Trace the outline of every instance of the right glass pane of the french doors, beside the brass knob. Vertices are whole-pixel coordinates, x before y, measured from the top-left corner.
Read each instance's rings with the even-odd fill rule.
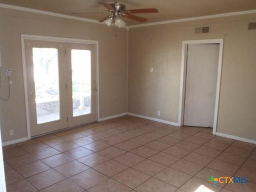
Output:
[[[71,50],[73,117],[92,113],[91,51]]]

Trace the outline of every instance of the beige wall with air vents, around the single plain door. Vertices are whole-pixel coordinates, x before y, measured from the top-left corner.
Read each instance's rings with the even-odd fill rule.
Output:
[[[217,132],[256,140],[256,30],[247,30],[249,21],[256,14],[130,29],[128,112],[178,122],[182,41],[224,38]],[[198,26],[210,26],[210,34],[194,34]]]

